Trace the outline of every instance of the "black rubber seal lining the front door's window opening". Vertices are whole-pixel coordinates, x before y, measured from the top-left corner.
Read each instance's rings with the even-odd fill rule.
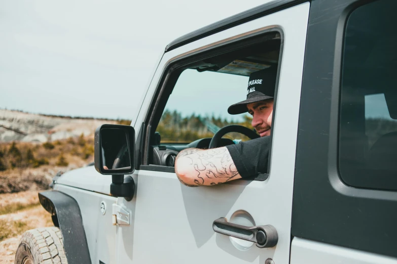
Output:
[[[202,60],[207,57],[215,56],[215,55],[219,54],[219,50],[223,50],[223,52],[231,52],[233,50],[240,49],[242,47],[247,47],[247,46],[251,46],[254,44],[258,44],[261,42],[261,40],[258,41],[258,39],[261,39],[261,37],[267,36],[271,32],[279,33],[280,40],[281,40],[280,41],[279,60],[278,60],[278,65],[277,65],[277,80],[276,80],[276,88],[275,88],[275,94],[274,94],[274,106],[273,106],[274,108],[276,107],[279,74],[280,74],[282,55],[283,55],[283,50],[284,50],[284,32],[282,31],[282,28],[279,26],[272,26],[269,28],[265,28],[263,30],[259,30],[254,33],[243,35],[243,36],[235,38],[235,39],[227,40],[225,42],[218,43],[211,47],[207,47],[202,50],[195,51],[193,53],[189,53],[184,56],[178,57],[174,60],[171,60],[164,67],[165,70],[163,71],[162,76],[160,77],[159,84],[156,88],[156,91],[153,94],[153,98],[156,98],[156,100],[152,99],[149,110],[147,112],[147,116],[144,121],[147,124],[147,127],[146,127],[146,134],[145,134],[146,137],[143,139],[144,142],[143,142],[142,161],[140,162],[140,165],[139,165],[139,167],[141,169],[147,168],[149,166],[149,149],[150,149],[150,138],[151,138],[151,134],[152,134],[151,130],[153,127],[152,125],[154,124],[153,122],[156,119],[160,120],[162,111],[159,111],[158,107],[159,107],[161,99],[163,98],[165,90],[167,88],[167,84],[168,84],[167,80],[170,79],[170,77],[174,73],[174,71],[176,71],[178,69],[181,70],[181,69],[183,69],[184,66],[187,66],[192,62]],[[264,41],[264,40],[262,40],[262,41]],[[234,47],[234,46],[236,46],[236,47]],[[224,51],[225,48],[228,48],[228,50]],[[182,73],[182,70],[181,70],[181,72],[179,72],[179,74],[180,73]],[[179,74],[177,74],[177,78],[179,77]],[[173,87],[172,87],[172,89],[173,89]],[[168,100],[168,98],[167,98],[167,100]],[[160,115],[160,117],[158,115]],[[273,117],[272,117],[272,127],[274,127],[275,116],[276,116],[276,113],[274,111]],[[157,126],[157,124],[156,124],[156,126]],[[271,137],[273,137],[273,135],[271,135]],[[271,164],[270,162],[271,162],[271,153],[272,153],[272,140],[270,141],[269,153],[270,153],[270,155],[269,155],[269,161],[268,161],[268,164],[269,164],[268,173],[270,171],[270,164]],[[152,165],[150,165],[150,166],[152,166]],[[172,169],[173,169],[173,172],[175,172],[174,168],[172,168]],[[151,167],[150,170],[170,172],[169,168],[166,166]],[[258,177],[249,178],[249,180],[264,181],[264,180],[268,179],[268,177],[267,177],[267,175],[269,175],[268,173],[259,174]]]

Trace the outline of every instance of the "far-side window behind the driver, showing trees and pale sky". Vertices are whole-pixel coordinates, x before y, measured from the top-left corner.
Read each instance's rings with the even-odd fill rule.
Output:
[[[247,114],[230,115],[228,107],[246,97],[248,76],[222,72],[187,69],[179,76],[156,131],[161,143],[190,143],[211,138],[225,125],[241,124],[247,127]],[[247,140],[238,133],[226,138]]]

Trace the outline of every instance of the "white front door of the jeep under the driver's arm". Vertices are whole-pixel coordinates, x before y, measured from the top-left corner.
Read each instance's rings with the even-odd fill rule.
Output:
[[[118,204],[130,211],[131,223],[117,226],[117,263],[265,263],[268,258],[277,264],[289,262],[298,113],[309,8],[309,2],[263,5],[225,20],[224,24],[210,25],[192,36],[177,39],[167,47],[134,125],[137,150],[132,176],[136,195],[131,201],[118,198]],[[227,72],[231,65],[226,63],[221,69],[216,60],[222,61],[239,51],[260,53],[261,45],[264,51],[272,48],[269,43],[278,43],[275,61],[268,60],[269,65],[278,69],[278,81],[268,173],[218,186],[184,186],[174,172],[173,158],[188,145],[175,143],[169,147],[162,144],[165,130],[155,133],[159,132],[161,116],[166,113],[165,106],[173,96],[172,89],[175,87],[173,92],[176,93],[178,82],[183,82],[183,76],[189,77],[188,72],[208,71],[214,75],[220,74],[219,71]],[[251,58],[251,62],[258,65],[249,54],[241,56],[246,60]],[[241,63],[237,55],[230,63],[233,62]],[[207,64],[200,66],[200,63]],[[233,74],[223,74],[234,78]],[[192,107],[198,100],[195,95],[204,93],[204,90],[189,90],[195,81],[199,80],[187,80],[192,85],[184,86],[186,102]],[[237,97],[225,93],[217,100],[229,105],[236,103],[237,98],[244,100],[245,85],[242,81],[241,94]],[[224,89],[221,82],[216,86]],[[211,93],[207,95],[210,97]],[[172,105],[178,109],[186,102],[176,100]],[[209,107],[208,104],[201,102],[202,108]],[[199,108],[195,109],[200,112]],[[195,117],[199,123],[208,120],[203,116],[201,119]],[[206,129],[211,130],[214,122],[206,124]],[[181,135],[183,141],[186,135]],[[165,150],[170,155],[164,156]],[[157,158],[156,153],[160,153]],[[272,225],[278,233],[277,245],[259,248],[255,243],[215,233],[212,224],[220,217],[246,227]]]

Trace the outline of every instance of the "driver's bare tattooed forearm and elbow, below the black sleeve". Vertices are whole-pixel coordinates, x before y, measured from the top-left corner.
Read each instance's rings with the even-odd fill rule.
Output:
[[[186,186],[215,185],[240,179],[226,147],[185,149],[176,156],[176,175]]]

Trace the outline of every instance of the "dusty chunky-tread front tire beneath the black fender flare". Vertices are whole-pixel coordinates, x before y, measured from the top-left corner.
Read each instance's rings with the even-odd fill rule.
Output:
[[[15,254],[15,264],[67,264],[61,231],[57,227],[23,233]]]

